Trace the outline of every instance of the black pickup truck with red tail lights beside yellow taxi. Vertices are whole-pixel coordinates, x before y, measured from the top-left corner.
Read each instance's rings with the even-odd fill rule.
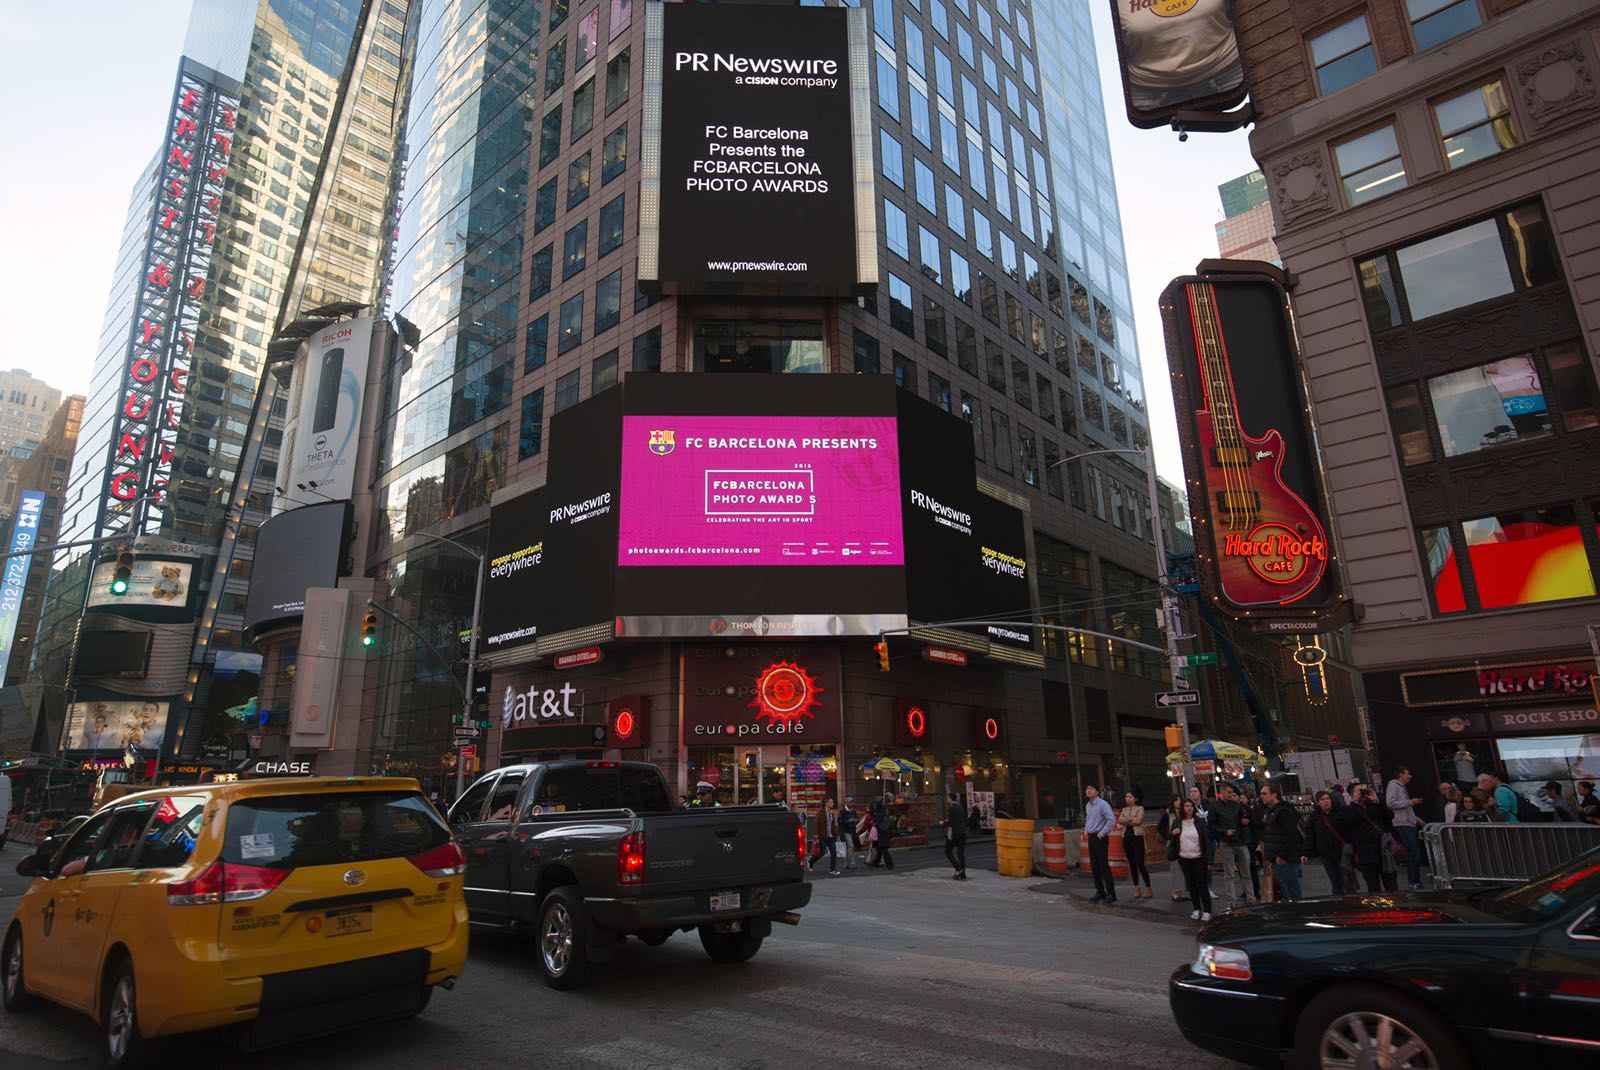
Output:
[[[450,808],[475,924],[531,928],[552,988],[576,988],[627,936],[699,929],[742,963],[811,900],[805,830],[784,806],[675,809],[642,761],[546,761],[485,774]]]

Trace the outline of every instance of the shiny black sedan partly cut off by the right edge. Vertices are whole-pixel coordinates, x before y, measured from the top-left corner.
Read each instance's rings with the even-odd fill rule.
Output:
[[[1192,1043],[1258,1067],[1600,1067],[1600,849],[1526,884],[1229,913],[1171,977]]]

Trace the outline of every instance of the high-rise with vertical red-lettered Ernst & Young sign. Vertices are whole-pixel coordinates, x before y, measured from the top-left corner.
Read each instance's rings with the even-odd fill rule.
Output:
[[[306,307],[373,304],[382,289],[403,26],[403,0],[198,0],[165,133],[133,190],[61,537],[126,536],[186,577],[182,613],[163,605],[144,621],[120,603],[131,624],[118,627],[157,627],[165,645],[130,685],[166,707],[163,757],[198,745],[186,734],[216,654],[242,646],[274,443],[258,489],[229,489],[272,430],[270,392],[256,419],[270,339]],[[53,563],[35,677],[62,705],[133,701],[75,670],[107,545]]]

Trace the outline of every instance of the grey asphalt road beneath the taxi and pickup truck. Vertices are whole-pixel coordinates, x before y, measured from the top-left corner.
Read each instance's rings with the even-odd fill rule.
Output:
[[[21,892],[0,859],[0,913]],[[474,931],[454,992],[416,1020],[242,1056],[226,1035],[186,1036],[176,1062],[205,1067],[570,1067],[762,1070],[830,1064],[986,1070],[1234,1065],[1190,1048],[1166,1009],[1166,974],[1194,955],[1187,926],[1083,910],[1038,881],[902,854],[894,873],[832,880],[798,928],[717,966],[694,934],[629,940],[594,984],[546,988],[531,945]],[[971,864],[981,864],[974,852]],[[59,1008],[0,1014],[6,1070],[93,1067],[90,1022]]]

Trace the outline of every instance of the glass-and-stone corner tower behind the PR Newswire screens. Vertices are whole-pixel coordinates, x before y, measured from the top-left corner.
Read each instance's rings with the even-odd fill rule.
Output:
[[[827,753],[680,736],[682,704],[718,686],[694,669],[717,645],[606,643],[598,665],[558,677],[496,664],[493,693],[541,672],[598,707],[642,694],[650,757],[682,785],[715,769],[738,798],[771,798],[766,777],[787,792],[800,768],[875,792],[859,766],[890,752],[923,758],[923,792],[986,779],[1016,812],[1062,809],[1080,781],[1165,790],[1163,659],[1104,638],[1158,643],[1142,461],[1066,462],[1147,440],[1088,11],[877,0],[867,14],[877,291],[709,299],[635,281],[642,3],[413,5],[389,304],[410,342],[386,376],[365,537],[387,605],[426,645],[397,633],[370,670],[362,771],[453,779],[461,697],[435,651],[464,653],[475,561],[432,536],[482,549],[490,505],[552,478],[555,413],[630,374],[829,371],[893,376],[965,419],[979,481],[1029,510],[1042,617],[1101,635],[1045,633],[1043,669],[949,669],[910,648],[883,673],[870,643],[811,645],[843,689]],[[744,648],[728,649],[738,662]],[[896,744],[910,699],[949,709],[931,710],[930,739]],[[974,744],[974,710],[1005,712],[1005,745]],[[499,757],[493,733],[485,749]]]

